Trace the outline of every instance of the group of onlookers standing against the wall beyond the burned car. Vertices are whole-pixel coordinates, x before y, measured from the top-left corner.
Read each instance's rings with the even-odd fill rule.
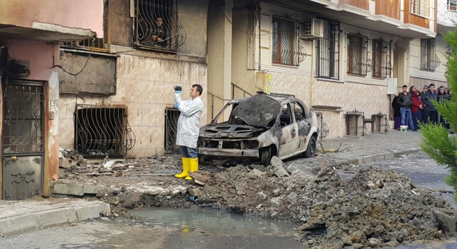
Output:
[[[400,129],[401,125],[408,125],[411,131],[417,131],[421,122],[433,122],[442,124],[449,129],[449,124],[439,115],[432,100],[438,103],[445,103],[452,96],[447,87],[435,89],[435,84],[425,85],[423,91],[416,87],[403,86],[397,96],[392,101],[394,108],[394,128]]]

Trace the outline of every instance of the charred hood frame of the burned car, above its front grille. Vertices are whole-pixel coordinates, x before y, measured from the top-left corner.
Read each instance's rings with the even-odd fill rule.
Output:
[[[210,124],[200,128],[200,137],[208,139],[245,139],[258,136],[265,130],[265,128],[247,125]]]

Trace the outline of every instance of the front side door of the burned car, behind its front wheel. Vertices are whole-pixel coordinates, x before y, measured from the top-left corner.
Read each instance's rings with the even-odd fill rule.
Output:
[[[295,115],[289,103],[283,103],[283,109],[278,115],[281,127],[281,138],[279,139],[279,157],[285,157],[297,151],[298,125],[295,122]]]

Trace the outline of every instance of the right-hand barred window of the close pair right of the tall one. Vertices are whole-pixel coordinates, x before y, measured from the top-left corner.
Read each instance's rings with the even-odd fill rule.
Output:
[[[384,39],[373,39],[372,43],[372,76],[387,78],[392,72],[392,63],[390,63],[391,49],[390,42]]]

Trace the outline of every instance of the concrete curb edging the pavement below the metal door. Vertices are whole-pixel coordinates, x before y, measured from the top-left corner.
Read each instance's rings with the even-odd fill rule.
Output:
[[[0,219],[0,236],[39,231],[53,226],[81,222],[100,217],[101,212],[110,213],[110,205],[102,201],[77,202],[77,205],[60,205],[48,210],[37,210]]]

